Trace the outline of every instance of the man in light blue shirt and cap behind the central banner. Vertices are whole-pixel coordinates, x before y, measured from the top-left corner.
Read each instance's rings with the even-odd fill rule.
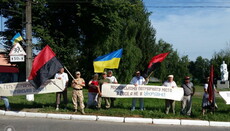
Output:
[[[136,76],[132,78],[130,84],[133,84],[134,86],[146,85],[146,84],[148,84],[148,79],[145,80],[145,78],[141,76],[140,71],[137,71]],[[135,110],[136,101],[137,101],[137,98],[132,99],[131,111]],[[139,98],[139,101],[140,101],[140,110],[143,111],[144,110],[144,98]]]

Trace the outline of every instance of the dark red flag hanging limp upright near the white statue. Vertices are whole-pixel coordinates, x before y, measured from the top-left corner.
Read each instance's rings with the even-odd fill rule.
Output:
[[[209,76],[209,82],[208,82],[208,100],[212,103],[214,102],[214,88],[213,88],[213,78],[214,78],[214,67],[211,66],[210,69],[210,76]]]

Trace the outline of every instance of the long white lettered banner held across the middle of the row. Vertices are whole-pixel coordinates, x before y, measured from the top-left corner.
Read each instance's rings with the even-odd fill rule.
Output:
[[[102,97],[113,98],[159,98],[181,101],[183,88],[151,85],[103,84]]]

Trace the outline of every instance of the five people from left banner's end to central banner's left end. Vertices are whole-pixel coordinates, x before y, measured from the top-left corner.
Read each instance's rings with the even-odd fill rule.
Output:
[[[61,79],[65,86],[63,92],[56,93],[56,110],[59,110],[60,99],[63,96],[63,101],[65,107],[67,105],[67,85],[68,85],[68,75],[64,72],[64,68],[60,69],[60,71],[55,75],[55,79]],[[88,83],[88,108],[101,108],[102,103],[102,93],[101,87],[102,84],[113,83],[117,84],[117,79],[113,76],[113,72],[109,70],[108,72],[103,72],[101,79],[99,79],[98,74],[94,74],[92,80]],[[83,95],[83,87],[85,86],[85,80],[81,78],[81,73],[79,71],[75,72],[75,78],[71,83],[71,87],[73,88],[72,92],[72,102],[74,105],[74,112],[78,111],[78,102],[80,107],[80,112],[85,114],[84,108],[84,95]],[[114,106],[115,98],[103,98],[105,100],[105,108],[109,109],[111,106]]]

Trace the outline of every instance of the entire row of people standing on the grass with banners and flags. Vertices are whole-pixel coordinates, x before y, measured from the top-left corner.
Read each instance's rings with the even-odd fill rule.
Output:
[[[105,101],[105,108],[109,109],[110,107],[114,106],[115,98],[105,98],[102,97],[102,85],[107,83],[112,84],[118,84],[118,81],[115,76],[113,76],[113,72],[109,70],[108,72],[103,72],[101,74],[101,78],[99,79],[98,74],[94,74],[93,78],[88,83],[88,102],[87,107],[88,108],[96,108],[100,109],[102,104],[102,99]],[[67,107],[67,86],[69,82],[69,78],[67,73],[64,72],[64,68],[61,68],[58,73],[55,75],[55,79],[61,79],[63,81],[63,86],[65,89],[63,92],[57,92],[56,93],[56,110],[59,110],[59,106],[61,103],[61,96],[63,96],[63,101],[65,108]],[[176,82],[173,80],[173,75],[168,75],[168,79],[163,83],[162,86],[165,87],[171,87],[171,88],[177,88]],[[133,84],[134,86],[138,85],[146,85],[148,84],[149,79],[144,78],[141,76],[140,71],[135,72],[135,76],[131,79],[130,84]],[[202,100],[202,113],[204,114],[207,109],[210,109],[210,107],[217,107],[217,105],[212,105],[213,102],[210,102],[208,100],[209,94],[208,94],[208,81],[209,77],[206,78],[206,83],[204,84],[204,94],[203,94],[203,100]],[[83,95],[83,87],[86,86],[85,80],[81,78],[81,73],[79,71],[75,72],[75,78],[73,79],[71,83],[71,87],[73,88],[72,91],[72,102],[74,105],[74,112],[78,111],[78,102],[80,107],[80,112],[82,114],[85,114],[84,108],[84,95]],[[181,101],[181,114],[182,115],[188,115],[190,116],[192,113],[192,96],[195,94],[195,87],[193,83],[190,81],[190,77],[186,76],[184,78],[184,82],[181,85],[181,87],[184,90],[184,96]],[[214,90],[218,93],[216,88]],[[10,110],[9,101],[6,97],[1,97],[2,100],[4,100],[6,110]],[[133,98],[132,99],[132,105],[131,105],[131,111],[134,111],[136,109],[136,101],[139,99],[140,103],[140,110],[144,110],[144,98]],[[165,100],[165,113],[169,114],[169,112],[172,112],[175,114],[175,101],[174,100]]]

